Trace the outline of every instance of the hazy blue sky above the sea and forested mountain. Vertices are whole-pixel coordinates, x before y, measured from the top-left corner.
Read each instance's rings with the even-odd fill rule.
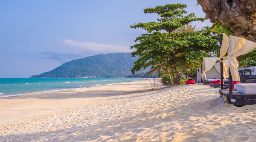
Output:
[[[131,52],[131,29],[156,21],[147,7],[184,3],[204,17],[196,0],[0,0],[0,77],[30,77],[66,61],[100,53]],[[199,28],[209,20],[194,22]]]

